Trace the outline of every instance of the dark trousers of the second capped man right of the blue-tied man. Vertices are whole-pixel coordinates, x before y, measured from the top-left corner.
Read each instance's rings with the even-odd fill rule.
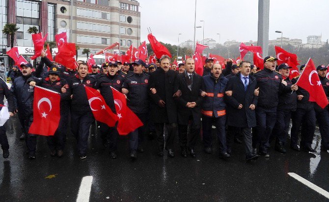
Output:
[[[279,142],[282,142],[282,144],[285,145],[288,136],[290,120],[290,110],[276,111],[276,122],[272,131],[272,135],[270,136],[269,143],[275,140],[276,145],[278,145]]]

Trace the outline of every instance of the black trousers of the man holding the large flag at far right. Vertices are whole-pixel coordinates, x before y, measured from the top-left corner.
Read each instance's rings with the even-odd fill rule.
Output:
[[[297,108],[292,114],[292,123],[291,127],[291,146],[297,145],[298,142],[298,132],[302,126],[302,147],[311,147],[314,131],[315,131],[315,111],[314,109],[301,109]]]

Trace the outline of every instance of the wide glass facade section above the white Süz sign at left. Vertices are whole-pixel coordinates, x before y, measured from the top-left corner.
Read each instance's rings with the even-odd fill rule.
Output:
[[[16,0],[17,46],[33,46],[32,36],[27,32],[30,26],[40,30],[40,3],[28,0]]]

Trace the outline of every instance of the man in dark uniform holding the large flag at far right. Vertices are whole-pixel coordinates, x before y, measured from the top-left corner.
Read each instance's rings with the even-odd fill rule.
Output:
[[[305,65],[301,66],[301,71]],[[296,76],[292,79],[292,83],[296,83],[299,76]],[[313,135],[315,131],[315,111],[314,111],[314,102],[309,100],[309,93],[299,87],[296,91],[297,94],[297,109],[292,114],[292,127],[291,127],[291,141],[290,148],[295,151],[311,151],[315,152],[312,149]],[[301,130],[301,148],[298,147],[298,133],[302,126]]]

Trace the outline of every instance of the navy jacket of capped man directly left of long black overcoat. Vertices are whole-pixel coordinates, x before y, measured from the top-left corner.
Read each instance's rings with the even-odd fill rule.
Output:
[[[150,76],[142,74],[133,74],[127,76],[123,88],[129,90],[127,95],[127,105],[135,113],[148,113],[149,111],[149,87]]]

